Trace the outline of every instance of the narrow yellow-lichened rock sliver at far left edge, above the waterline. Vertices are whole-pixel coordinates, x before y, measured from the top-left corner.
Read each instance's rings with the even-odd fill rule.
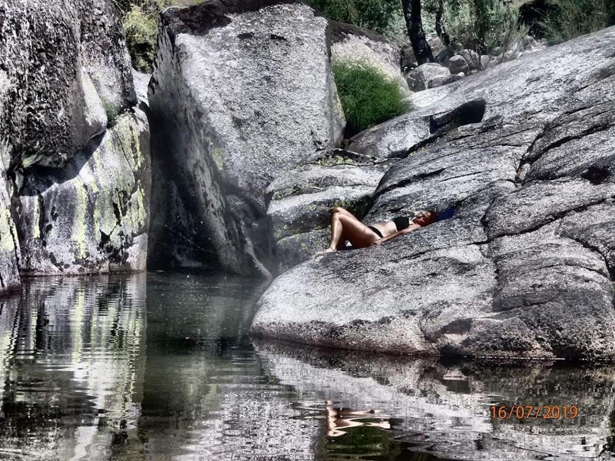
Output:
[[[19,277],[19,240],[10,212],[9,184],[4,161],[9,160],[10,146],[0,141],[0,296],[17,290]]]

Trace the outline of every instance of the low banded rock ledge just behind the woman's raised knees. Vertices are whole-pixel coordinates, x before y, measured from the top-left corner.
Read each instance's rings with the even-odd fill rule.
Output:
[[[333,149],[277,176],[267,187],[267,214],[280,268],[327,247],[331,208],[364,216],[374,188],[395,161]]]

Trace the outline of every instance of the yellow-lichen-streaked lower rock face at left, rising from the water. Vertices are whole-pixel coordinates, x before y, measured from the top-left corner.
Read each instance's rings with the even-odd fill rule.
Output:
[[[23,274],[146,269],[151,167],[145,114],[124,114],[63,168],[35,168],[19,193]]]

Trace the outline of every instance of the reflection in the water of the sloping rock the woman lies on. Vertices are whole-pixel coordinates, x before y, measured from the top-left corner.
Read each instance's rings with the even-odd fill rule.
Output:
[[[593,458],[611,434],[613,368],[458,364],[371,358],[360,353],[298,350],[256,343],[263,366],[303,395],[373,409],[392,422],[395,441],[438,457],[520,460],[552,454]],[[571,405],[575,420],[502,420],[492,404]],[[542,459],[542,458],[541,458]]]

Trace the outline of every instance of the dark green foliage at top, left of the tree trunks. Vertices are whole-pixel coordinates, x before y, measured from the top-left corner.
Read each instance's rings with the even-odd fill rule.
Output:
[[[400,0],[306,0],[325,17],[384,33],[400,11]]]

